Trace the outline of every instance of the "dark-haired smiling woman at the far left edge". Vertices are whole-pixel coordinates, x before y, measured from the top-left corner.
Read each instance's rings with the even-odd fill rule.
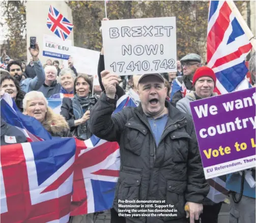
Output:
[[[23,103],[25,92],[20,89],[19,83],[16,78],[9,74],[1,74],[1,90],[9,93],[15,101],[18,109],[23,112]]]

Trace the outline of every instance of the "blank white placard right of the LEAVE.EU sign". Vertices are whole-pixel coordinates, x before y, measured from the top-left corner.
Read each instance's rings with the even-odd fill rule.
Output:
[[[77,73],[95,75],[98,73],[98,62],[100,52],[81,47],[71,47],[70,55],[73,58],[74,67]],[[68,61],[64,61],[68,67]]]

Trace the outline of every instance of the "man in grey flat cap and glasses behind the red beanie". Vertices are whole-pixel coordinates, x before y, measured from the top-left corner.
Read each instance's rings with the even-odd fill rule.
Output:
[[[183,68],[183,76],[176,77],[170,95],[174,106],[192,90],[193,75],[196,69],[201,67],[201,56],[195,53],[187,54],[180,61]]]

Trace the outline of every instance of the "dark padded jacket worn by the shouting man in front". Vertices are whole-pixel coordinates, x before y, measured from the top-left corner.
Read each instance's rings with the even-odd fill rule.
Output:
[[[117,212],[137,209],[121,208],[118,205],[127,203],[118,203],[118,200],[165,201],[164,204],[174,205],[178,210],[176,217],[128,217],[128,222],[186,222],[185,202],[202,203],[209,192],[191,118],[166,101],[169,117],[156,147],[141,105],[112,115],[116,101],[103,93],[90,116],[93,134],[120,145],[120,177],[113,208]],[[153,202],[146,204],[155,205]]]

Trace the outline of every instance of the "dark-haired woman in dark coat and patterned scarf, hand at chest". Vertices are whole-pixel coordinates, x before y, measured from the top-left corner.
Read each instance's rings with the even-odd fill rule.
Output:
[[[88,120],[90,110],[98,101],[96,96],[92,96],[92,89],[90,77],[79,75],[74,81],[74,98],[64,98],[61,107],[61,115],[68,121],[72,136],[82,140],[92,136]]]

